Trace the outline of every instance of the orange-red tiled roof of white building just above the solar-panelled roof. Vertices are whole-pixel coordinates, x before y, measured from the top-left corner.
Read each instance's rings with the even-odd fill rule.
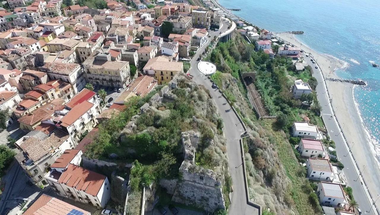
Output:
[[[105,179],[106,176],[102,174],[69,164],[58,182],[74,187],[77,190],[82,190],[92,196],[97,196]]]

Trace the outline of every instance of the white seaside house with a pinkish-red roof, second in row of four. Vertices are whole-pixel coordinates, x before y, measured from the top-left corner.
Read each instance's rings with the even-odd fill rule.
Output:
[[[299,141],[298,151],[302,157],[326,156],[323,143],[320,140],[301,139]]]

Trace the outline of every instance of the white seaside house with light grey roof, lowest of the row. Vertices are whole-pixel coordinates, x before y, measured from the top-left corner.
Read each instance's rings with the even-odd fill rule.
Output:
[[[317,195],[323,205],[339,207],[347,204],[342,185],[329,182],[321,182],[318,185]]]

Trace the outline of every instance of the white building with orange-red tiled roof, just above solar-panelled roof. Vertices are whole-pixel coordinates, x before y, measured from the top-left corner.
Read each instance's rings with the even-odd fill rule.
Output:
[[[111,198],[107,176],[69,163],[63,172],[51,168],[45,179],[55,194],[73,201],[104,208]]]

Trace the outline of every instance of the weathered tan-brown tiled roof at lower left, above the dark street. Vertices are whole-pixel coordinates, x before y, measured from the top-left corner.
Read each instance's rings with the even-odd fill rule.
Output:
[[[20,147],[28,154],[30,159],[36,161],[49,153],[49,151],[58,148],[68,137],[69,135],[65,132],[55,129],[51,136],[46,139],[39,140],[34,137],[29,137]]]

